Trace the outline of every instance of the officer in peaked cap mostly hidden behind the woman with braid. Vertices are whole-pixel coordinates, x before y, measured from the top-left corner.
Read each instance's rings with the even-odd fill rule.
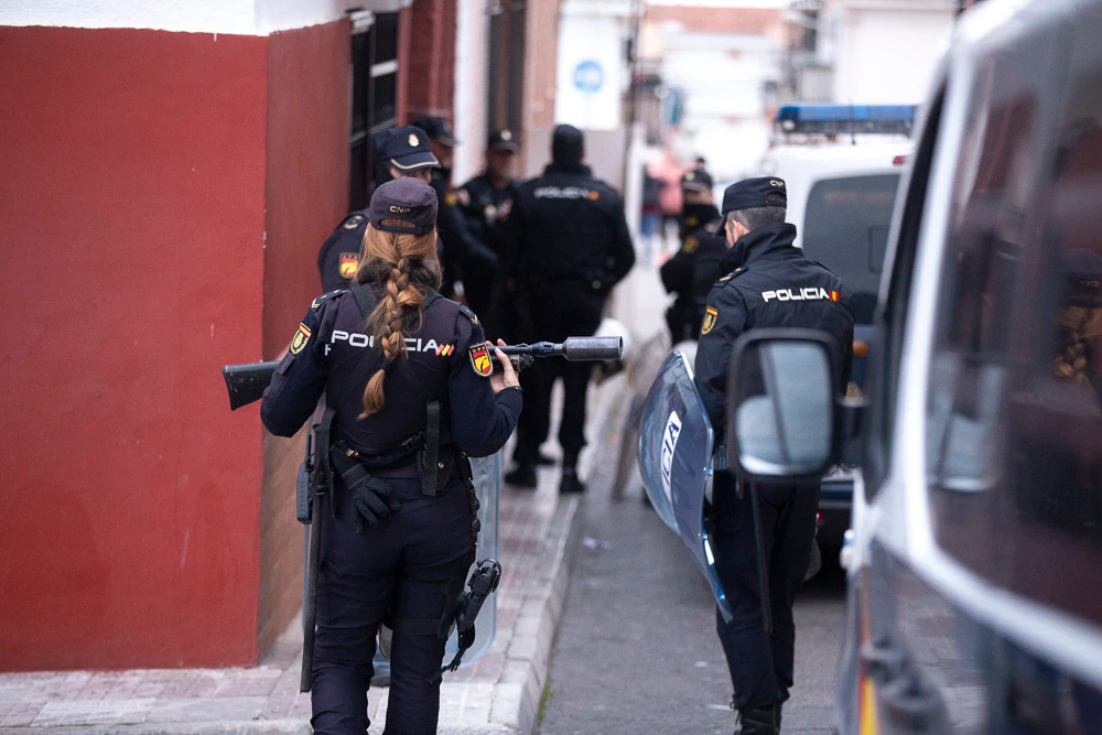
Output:
[[[402,176],[428,183],[430,172],[440,169],[440,161],[432,153],[432,142],[419,128],[407,126],[380,130],[371,142],[379,183]],[[367,221],[367,209],[353,212],[325,240],[317,253],[323,291],[347,289],[352,284]]]

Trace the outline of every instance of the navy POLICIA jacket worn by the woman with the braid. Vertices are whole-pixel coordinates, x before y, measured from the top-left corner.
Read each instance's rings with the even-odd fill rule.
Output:
[[[375,349],[365,321],[349,291],[314,300],[264,391],[260,419],[268,431],[294,435],[314,412],[332,378],[354,374],[365,352],[376,353],[369,359],[381,360],[381,350]],[[406,339],[410,368],[445,407],[452,440],[469,456],[487,456],[501,448],[521,409],[519,389],[495,394],[487,377],[475,369],[472,347],[477,353],[485,341],[471,310],[435,292],[428,294],[421,328]],[[391,369],[383,382],[382,409],[358,420],[364,388],[374,374],[375,369],[352,391],[346,404],[337,407],[333,434],[359,452],[378,455],[424,431],[426,419],[419,391],[401,370]]]

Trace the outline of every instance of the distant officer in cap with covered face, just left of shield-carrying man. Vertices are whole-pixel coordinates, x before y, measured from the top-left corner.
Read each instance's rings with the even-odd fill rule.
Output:
[[[666,311],[666,323],[673,344],[695,339],[704,318],[707,292],[722,273],[720,261],[727,255],[723,217],[715,208],[712,176],[704,169],[687,171],[681,176],[681,250],[660,269],[667,293],[677,300]]]

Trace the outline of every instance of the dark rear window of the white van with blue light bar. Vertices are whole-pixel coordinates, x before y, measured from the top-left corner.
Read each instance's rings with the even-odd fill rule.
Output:
[[[853,293],[857,324],[872,324],[899,174],[824,179],[808,194],[803,251]]]

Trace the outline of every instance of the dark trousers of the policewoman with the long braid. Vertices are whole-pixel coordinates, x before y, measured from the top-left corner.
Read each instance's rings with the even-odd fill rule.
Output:
[[[314,641],[315,733],[367,732],[367,690],[375,668],[376,636],[389,608],[396,618],[440,619],[447,590],[462,590],[475,555],[466,486],[452,479],[435,497],[415,479],[387,479],[401,510],[364,533],[353,530],[348,498],[337,518],[326,518],[317,585]],[[328,509],[325,509],[328,512]],[[393,634],[387,733],[435,733],[440,684],[429,680],[442,666],[445,640]]]

